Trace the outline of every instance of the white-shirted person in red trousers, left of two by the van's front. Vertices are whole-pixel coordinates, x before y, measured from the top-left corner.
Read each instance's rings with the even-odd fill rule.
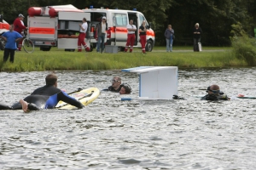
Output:
[[[135,31],[137,31],[137,27],[133,25],[133,20],[130,20],[129,24],[126,26],[128,34],[127,34],[127,42],[125,45],[125,52],[128,51],[130,45],[130,53],[132,52],[134,41],[135,41]]]

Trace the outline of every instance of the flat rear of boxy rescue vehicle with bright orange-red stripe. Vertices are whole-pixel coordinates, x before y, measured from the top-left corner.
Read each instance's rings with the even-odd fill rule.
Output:
[[[49,16],[34,16],[27,19],[27,36],[39,46],[55,46],[57,40],[57,20]]]

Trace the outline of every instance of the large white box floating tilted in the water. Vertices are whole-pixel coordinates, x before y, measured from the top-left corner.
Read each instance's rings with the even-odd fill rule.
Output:
[[[122,71],[139,74],[142,99],[172,99],[177,95],[177,66],[140,66]]]

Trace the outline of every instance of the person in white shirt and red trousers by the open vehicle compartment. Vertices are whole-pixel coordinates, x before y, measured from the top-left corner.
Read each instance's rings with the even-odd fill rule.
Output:
[[[82,52],[82,45],[84,46],[85,51],[90,52],[90,48],[86,45],[86,42],[84,42],[86,31],[88,29],[88,24],[85,18],[83,18],[82,22],[83,24],[79,24],[80,26],[79,40],[78,40],[79,52]]]

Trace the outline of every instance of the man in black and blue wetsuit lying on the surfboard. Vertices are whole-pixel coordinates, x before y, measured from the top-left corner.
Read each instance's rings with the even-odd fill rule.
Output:
[[[81,104],[77,99],[69,96],[61,89],[57,87],[57,77],[55,74],[49,74],[45,77],[46,85],[42,88],[37,88],[31,95],[27,96],[25,99],[20,99],[18,103],[12,106],[0,105],[0,109],[11,109],[23,111],[39,111],[43,109],[53,109],[58,102],[64,101],[67,104],[74,105],[79,109],[83,108],[84,105]]]

